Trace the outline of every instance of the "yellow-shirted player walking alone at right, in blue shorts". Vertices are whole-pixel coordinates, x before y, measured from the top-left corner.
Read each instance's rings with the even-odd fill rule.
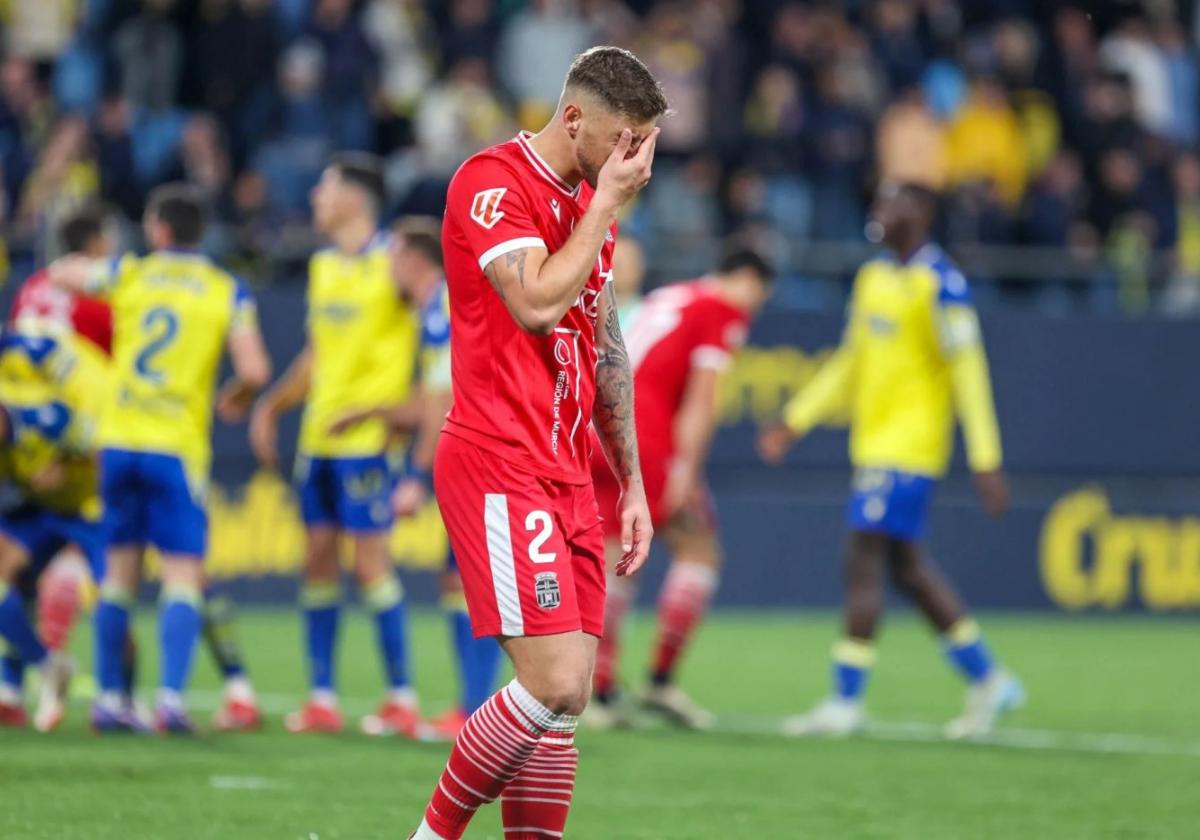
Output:
[[[930,241],[936,215],[937,197],[924,187],[880,187],[868,233],[888,253],[859,270],[841,347],[786,407],[784,424],[760,440],[763,456],[779,462],[817,424],[850,416],[856,472],[847,511],[846,636],[834,647],[833,694],[791,721],[796,734],[848,734],[864,726],[886,571],[941,634],[968,682],[966,710],[947,726],[948,736],[986,734],[1000,713],[1022,700],[1020,684],[996,664],[923,547],[934,485],[949,466],[955,416],[984,509],[998,516],[1008,505],[979,320],[962,274]]]

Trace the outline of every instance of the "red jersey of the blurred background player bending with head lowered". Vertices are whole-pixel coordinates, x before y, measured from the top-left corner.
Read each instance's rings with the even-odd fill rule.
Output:
[[[745,312],[704,280],[666,286],[646,299],[625,335],[643,461],[674,454],[674,418],[689,374],[727,367],[746,330]]]

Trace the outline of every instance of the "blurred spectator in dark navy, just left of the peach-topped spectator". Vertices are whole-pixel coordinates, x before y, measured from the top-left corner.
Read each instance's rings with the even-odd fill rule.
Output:
[[[836,64],[817,76],[809,121],[815,239],[857,240],[863,232],[863,178],[871,161],[871,124],[850,98]]]

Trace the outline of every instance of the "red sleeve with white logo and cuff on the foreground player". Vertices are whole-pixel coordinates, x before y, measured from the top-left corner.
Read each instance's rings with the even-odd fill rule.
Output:
[[[517,176],[499,161],[467,161],[450,182],[446,214],[480,269],[520,248],[546,247]]]

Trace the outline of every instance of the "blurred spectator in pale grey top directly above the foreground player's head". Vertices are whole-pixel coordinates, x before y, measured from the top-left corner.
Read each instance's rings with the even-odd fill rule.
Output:
[[[540,128],[554,113],[563,77],[592,46],[592,28],[575,0],[533,0],[500,34],[497,67],[517,104],[517,122]]]

